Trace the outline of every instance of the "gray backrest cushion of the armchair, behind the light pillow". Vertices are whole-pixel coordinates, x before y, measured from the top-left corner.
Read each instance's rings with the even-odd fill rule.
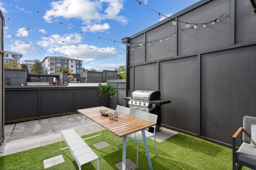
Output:
[[[246,143],[251,143],[251,127],[252,124],[256,125],[256,117],[244,116],[243,121],[243,141]]]

